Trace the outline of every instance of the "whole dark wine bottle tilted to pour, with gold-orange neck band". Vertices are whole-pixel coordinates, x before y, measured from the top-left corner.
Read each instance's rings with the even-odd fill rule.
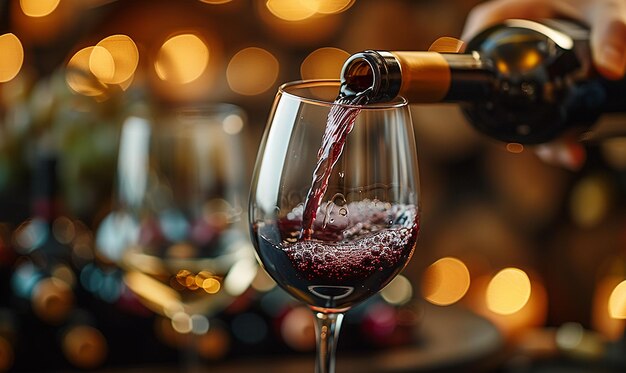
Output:
[[[457,102],[490,137],[547,142],[626,111],[626,81],[594,70],[588,41],[588,30],[573,22],[511,19],[479,33],[463,53],[356,53],[343,66],[340,94]]]

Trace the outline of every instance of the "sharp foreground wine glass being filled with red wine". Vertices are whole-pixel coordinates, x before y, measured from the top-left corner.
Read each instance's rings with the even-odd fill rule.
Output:
[[[249,203],[257,258],[315,315],[322,373],[334,371],[344,313],[406,266],[419,232],[407,102],[334,102],[339,88],[334,80],[279,88]]]

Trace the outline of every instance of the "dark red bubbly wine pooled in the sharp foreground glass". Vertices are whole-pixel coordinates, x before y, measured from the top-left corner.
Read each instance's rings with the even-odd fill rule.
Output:
[[[278,244],[273,229],[255,227],[266,269],[296,298],[320,309],[348,309],[374,295],[404,268],[417,240],[415,206],[368,200],[349,208],[360,213],[349,228],[327,224],[293,243],[288,237],[298,235],[299,217],[279,222],[287,239]]]

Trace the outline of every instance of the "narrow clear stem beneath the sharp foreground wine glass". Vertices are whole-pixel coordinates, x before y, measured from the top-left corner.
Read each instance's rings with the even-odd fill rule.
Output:
[[[315,314],[315,337],[317,339],[317,359],[315,361],[316,373],[335,372],[335,350],[343,313]]]

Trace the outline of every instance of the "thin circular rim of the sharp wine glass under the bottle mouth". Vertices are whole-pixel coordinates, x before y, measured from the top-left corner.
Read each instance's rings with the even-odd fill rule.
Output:
[[[402,108],[408,106],[409,102],[402,96],[398,96],[394,98],[392,101],[387,102],[376,102],[370,103],[366,105],[355,105],[355,104],[345,104],[345,103],[335,103],[334,101],[324,100],[321,98],[315,98],[306,95],[299,95],[293,92],[290,92],[289,89],[293,88],[314,88],[314,87],[330,87],[336,85],[337,88],[341,85],[341,80],[339,79],[309,79],[309,80],[295,80],[287,83],[283,83],[278,87],[278,93],[285,96],[290,96],[296,98],[302,102],[306,102],[309,104],[320,105],[320,106],[342,106],[348,108],[358,108],[361,110],[384,110],[384,109],[395,109]],[[339,90],[337,90],[339,92]],[[333,99],[334,100],[334,99]]]

